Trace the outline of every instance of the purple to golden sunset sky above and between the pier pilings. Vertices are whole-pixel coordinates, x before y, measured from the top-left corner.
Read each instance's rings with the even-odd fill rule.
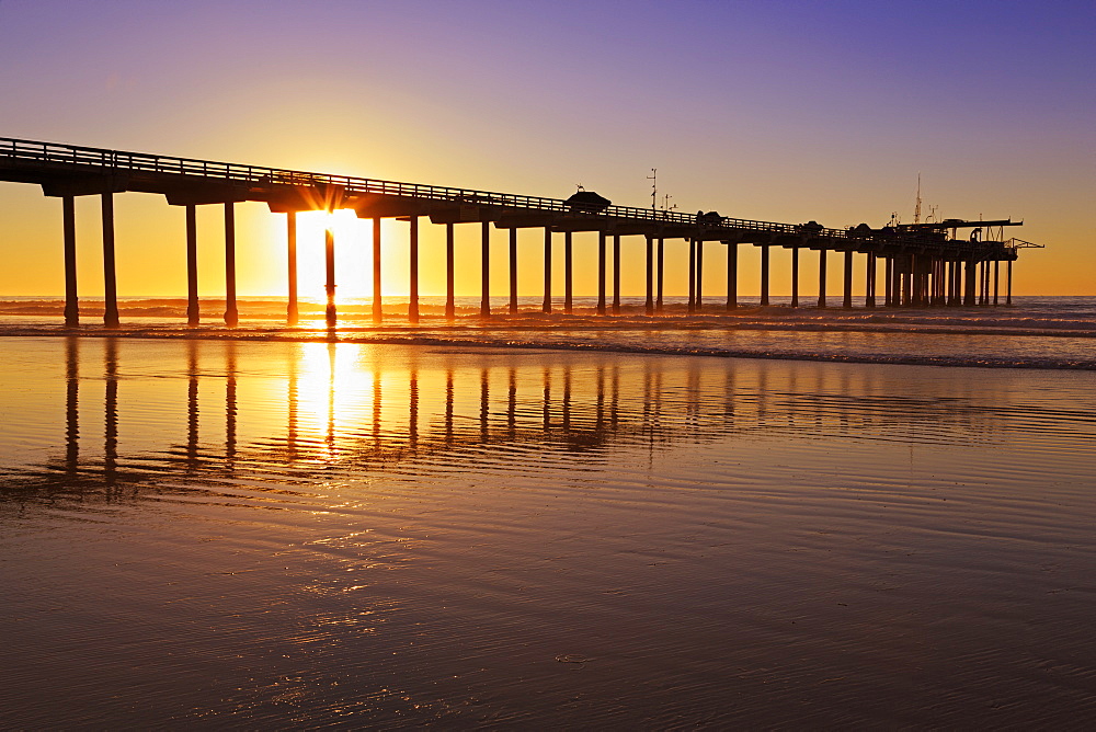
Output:
[[[1094,37],[1092,0],[0,0],[0,136],[549,197],[583,185],[633,206],[657,169],[680,210],[835,228],[912,221],[920,174],[924,214],[1011,217],[1009,236],[1046,244],[1021,252],[1017,294],[1096,295]],[[183,210],[115,206],[119,294],[183,294]],[[98,211],[78,199],[88,297]],[[198,211],[205,296],[224,294],[221,216]],[[323,222],[301,218],[301,291],[319,296]],[[237,229],[240,293],[284,293],[285,216],[241,204]],[[523,295],[539,291],[540,236],[520,236]],[[423,226],[424,294],[444,291],[443,237]],[[406,294],[407,224],[383,241],[384,290]],[[595,242],[575,236],[580,294]],[[667,294],[684,293],[686,245],[666,245]],[[369,294],[368,247],[368,221],[340,219],[343,296]],[[642,291],[642,247],[625,239],[626,294]],[[0,297],[60,294],[59,199],[0,183]],[[457,291],[476,294],[477,226],[457,227]],[[707,291],[724,256],[707,245]],[[743,294],[757,261],[740,247]],[[774,251],[775,294],[789,262]]]

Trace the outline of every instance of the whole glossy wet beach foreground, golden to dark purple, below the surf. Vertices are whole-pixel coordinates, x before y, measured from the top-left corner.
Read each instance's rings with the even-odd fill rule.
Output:
[[[1096,375],[0,339],[0,727],[1085,727]]]

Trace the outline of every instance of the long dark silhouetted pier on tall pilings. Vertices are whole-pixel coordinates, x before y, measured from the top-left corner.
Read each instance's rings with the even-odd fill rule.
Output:
[[[383,319],[380,221],[385,218],[408,224],[409,306],[408,320],[419,322],[419,226],[422,220],[444,226],[446,231],[445,317],[455,318],[454,271],[457,256],[477,256],[458,252],[454,227],[478,225],[481,231],[480,317],[491,318],[488,297],[489,243],[491,231],[504,229],[509,236],[509,308],[518,312],[517,272],[525,263],[517,261],[517,236],[521,229],[540,229],[544,236],[544,300],[541,311],[553,312],[551,262],[561,235],[563,247],[562,311],[573,310],[572,274],[579,266],[596,267],[596,314],[620,313],[620,271],[626,266],[620,255],[621,237],[642,237],[646,274],[644,312],[663,312],[664,247],[666,240],[681,239],[688,244],[689,313],[706,305],[701,287],[705,244],[726,249],[726,293],[722,308],[739,307],[738,248],[761,248],[761,305],[769,305],[772,249],[790,252],[791,307],[799,307],[800,260],[818,252],[818,307],[830,305],[826,254],[843,255],[841,273],[842,308],[876,308],[882,296],[883,307],[971,307],[1012,304],[1013,263],[1018,250],[1039,247],[1017,238],[1005,238],[1005,229],[1023,221],[998,219],[973,221],[945,219],[939,222],[892,225],[874,229],[866,224],[847,229],[831,229],[815,221],[779,224],[720,216],[716,211],[695,215],[680,211],[616,206],[593,192],[580,191],[567,199],[546,198],[469,188],[399,183],[367,178],[330,175],[243,165],[209,160],[127,152],[100,148],[59,145],[0,137],[0,181],[41,185],[46,196],[61,199],[61,230],[65,253],[65,324],[79,324],[76,252],[75,198],[100,196],[102,199],[103,268],[106,328],[119,325],[114,255],[114,194],[139,192],[163,195],[167,203],[185,209],[187,307],[186,320],[198,325],[197,227],[198,206],[221,206],[225,210],[225,324],[239,322],[236,305],[236,225],[235,205],[242,202],[265,203],[272,214],[286,216],[286,254],[288,293],[286,321],[297,323],[297,226],[296,215],[307,210],[353,209],[359,218],[373,220],[373,318]],[[597,235],[596,252],[578,253],[573,236]],[[960,232],[962,232],[960,235]],[[609,242],[612,241],[612,247]],[[324,241],[324,272],[329,328],[338,324],[335,306],[336,242],[329,229]],[[609,253],[612,252],[612,260]],[[612,261],[612,296],[608,270]],[[710,260],[709,260],[710,261]],[[589,262],[589,263],[587,263]],[[1002,291],[1002,267],[1004,290]],[[627,265],[635,266],[636,262]],[[864,289],[854,291],[854,272],[864,268]],[[882,283],[878,282],[880,270]],[[836,300],[835,300],[836,302]]]

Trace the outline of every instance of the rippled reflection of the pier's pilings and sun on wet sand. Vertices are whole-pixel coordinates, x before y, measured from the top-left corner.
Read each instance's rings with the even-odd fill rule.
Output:
[[[506,445],[579,455],[745,433],[980,443],[997,428],[961,387],[944,399],[887,393],[871,367],[189,340],[160,346],[185,355],[182,373],[169,375],[185,390],[158,396],[178,423],[146,434],[140,405],[165,375],[142,370],[142,345],[66,340],[64,459],[23,466],[9,484],[113,490],[164,471],[309,480]],[[255,358],[273,359],[277,376],[253,371]],[[141,444],[127,449],[133,430]]]

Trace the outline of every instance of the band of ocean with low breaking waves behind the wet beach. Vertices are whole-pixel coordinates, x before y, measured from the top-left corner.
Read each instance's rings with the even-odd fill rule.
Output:
[[[287,329],[286,305],[278,298],[240,304],[241,327],[226,329],[225,305],[203,300],[203,323],[184,327],[185,299],[128,299],[121,304],[122,334],[140,338],[261,338],[339,340],[359,343],[460,344],[463,346],[550,347],[630,353],[836,361],[941,366],[1071,368],[1096,370],[1096,297],[1017,297],[1012,307],[841,308],[786,307],[774,298],[766,308],[743,299],[727,311],[718,298],[687,314],[683,298],[666,298],[664,309],[644,316],[642,298],[624,298],[621,312],[598,317],[596,299],[574,298],[574,313],[540,312],[540,298],[518,299],[517,314],[506,298],[492,298],[490,320],[479,318],[479,299],[456,300],[457,317],[444,318],[444,298],[421,298],[422,320],[409,324],[407,300],[387,298],[385,320],[373,323],[372,304],[339,305],[338,328],[329,332],[322,306],[304,302],[298,328]],[[612,302],[608,304],[610,306]],[[60,300],[14,298],[0,301],[0,336],[64,334]],[[102,335],[102,302],[83,302],[80,332]]]

